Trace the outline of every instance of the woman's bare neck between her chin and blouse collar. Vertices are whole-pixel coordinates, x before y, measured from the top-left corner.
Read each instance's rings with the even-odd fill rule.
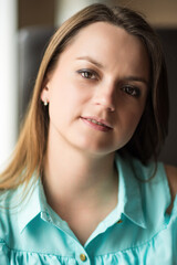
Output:
[[[44,190],[53,209],[63,203],[93,204],[117,191],[114,153],[91,155],[67,142],[49,140],[44,162]],[[115,184],[116,183],[116,184]]]

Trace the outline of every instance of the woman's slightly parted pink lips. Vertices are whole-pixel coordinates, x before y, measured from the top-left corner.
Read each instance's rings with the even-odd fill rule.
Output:
[[[110,131],[113,129],[113,127],[104,119],[100,119],[96,117],[81,117],[81,119],[92,127],[93,129],[101,130],[101,131]]]

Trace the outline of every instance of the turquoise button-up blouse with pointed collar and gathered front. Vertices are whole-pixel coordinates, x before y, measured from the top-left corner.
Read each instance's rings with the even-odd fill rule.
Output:
[[[116,157],[118,203],[81,245],[67,223],[48,204],[40,179],[32,194],[12,208],[23,187],[1,195],[1,265],[176,265],[177,199],[166,213],[170,192],[163,163]],[[80,214],[80,213],[79,213]]]

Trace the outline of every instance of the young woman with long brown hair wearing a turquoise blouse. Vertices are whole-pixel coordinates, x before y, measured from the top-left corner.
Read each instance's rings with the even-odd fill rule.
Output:
[[[166,67],[146,21],[93,4],[52,38],[8,169],[0,264],[177,264]]]

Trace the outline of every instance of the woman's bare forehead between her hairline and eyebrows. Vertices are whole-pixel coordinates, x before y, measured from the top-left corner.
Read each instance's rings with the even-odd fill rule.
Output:
[[[97,49],[97,53],[112,51],[115,55],[118,50],[124,52],[127,49],[134,54],[146,50],[139,38],[108,22],[95,22],[84,26],[65,50],[67,49],[79,50],[80,52]]]

